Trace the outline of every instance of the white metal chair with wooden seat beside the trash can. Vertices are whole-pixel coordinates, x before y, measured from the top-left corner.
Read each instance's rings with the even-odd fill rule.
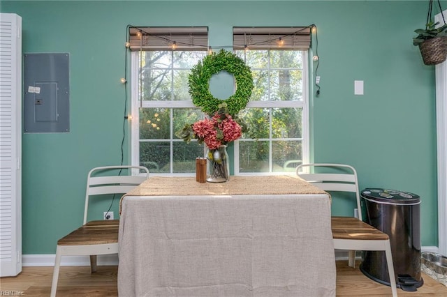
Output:
[[[349,266],[355,267],[356,250],[384,251],[393,296],[397,296],[396,279],[388,234],[362,222],[360,195],[356,169],[341,164],[303,164],[296,167],[296,174],[305,181],[328,192],[353,192],[356,195],[358,218],[335,217],[332,221],[334,248],[349,250]],[[332,199],[337,197],[332,197]],[[353,213],[353,212],[352,212]]]

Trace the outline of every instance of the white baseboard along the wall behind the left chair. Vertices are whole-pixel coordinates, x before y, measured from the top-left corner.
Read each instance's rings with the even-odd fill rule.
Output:
[[[54,266],[56,254],[24,254],[22,266]],[[117,266],[118,254],[100,254],[98,266]],[[61,258],[61,266],[90,266],[89,256],[65,256]]]

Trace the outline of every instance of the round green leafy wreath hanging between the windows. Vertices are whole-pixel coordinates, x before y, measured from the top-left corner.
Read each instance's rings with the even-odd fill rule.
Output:
[[[212,75],[225,70],[235,77],[236,91],[226,100],[215,98],[210,93]],[[201,107],[205,114],[212,115],[219,109],[218,105],[226,102],[228,114],[234,116],[247,106],[254,88],[253,75],[249,66],[235,54],[226,50],[205,56],[191,69],[188,79],[189,94],[194,105]]]

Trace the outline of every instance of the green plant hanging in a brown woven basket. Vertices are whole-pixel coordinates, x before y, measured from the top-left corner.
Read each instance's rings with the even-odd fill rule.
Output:
[[[418,33],[418,36],[413,38],[413,45],[419,47],[425,65],[437,65],[447,59],[447,24],[442,13],[441,3],[439,0],[437,2],[444,25],[438,26],[439,22],[433,21],[433,0],[430,0],[425,29],[416,29],[415,32]]]

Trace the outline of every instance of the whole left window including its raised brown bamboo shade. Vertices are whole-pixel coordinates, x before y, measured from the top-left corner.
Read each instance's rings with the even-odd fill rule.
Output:
[[[175,133],[203,118],[191,102],[188,76],[207,54],[207,28],[131,28],[130,33],[132,164],[152,174],[195,172],[203,146],[186,144]]]

